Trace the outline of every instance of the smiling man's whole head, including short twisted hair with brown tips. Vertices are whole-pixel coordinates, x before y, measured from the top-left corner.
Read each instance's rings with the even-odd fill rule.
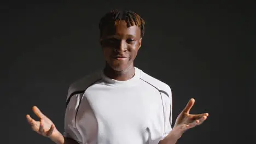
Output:
[[[133,11],[114,9],[100,21],[100,43],[104,59],[114,70],[133,66],[144,35],[144,20]]]

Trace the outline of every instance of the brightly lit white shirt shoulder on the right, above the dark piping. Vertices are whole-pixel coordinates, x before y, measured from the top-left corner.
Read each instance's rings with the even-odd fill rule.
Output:
[[[172,97],[172,92],[171,92],[171,87],[167,85],[167,83],[162,82],[158,79],[156,79],[153,76],[150,76],[149,74],[145,73],[144,71],[141,70],[141,76],[140,79],[149,85],[152,85],[160,93],[164,93],[167,97],[171,98]]]

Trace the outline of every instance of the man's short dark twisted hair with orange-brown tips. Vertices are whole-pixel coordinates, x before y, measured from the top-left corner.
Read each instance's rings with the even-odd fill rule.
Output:
[[[136,14],[134,11],[131,10],[118,10],[118,9],[113,9],[110,12],[108,12],[106,15],[104,15],[98,27],[100,28],[100,36],[102,36],[104,28],[106,28],[109,25],[117,25],[118,20],[124,20],[127,23],[127,27],[130,26],[138,26],[141,28],[141,37],[144,36],[144,25],[145,21]]]

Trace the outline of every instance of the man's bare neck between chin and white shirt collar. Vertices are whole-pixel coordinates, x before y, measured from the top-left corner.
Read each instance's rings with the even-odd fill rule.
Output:
[[[109,67],[108,64],[106,64],[106,67],[104,68],[104,74],[110,79],[114,79],[118,81],[126,81],[126,80],[130,80],[135,75],[135,68],[132,64],[130,67],[128,67],[125,70],[117,71]]]

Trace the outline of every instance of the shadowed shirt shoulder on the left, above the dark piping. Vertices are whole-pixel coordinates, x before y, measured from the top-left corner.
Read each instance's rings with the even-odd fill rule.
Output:
[[[94,85],[97,81],[101,80],[100,71],[95,71],[89,75],[81,77],[78,80],[75,80],[68,88],[67,99],[73,94],[77,92],[84,92],[88,87]]]

